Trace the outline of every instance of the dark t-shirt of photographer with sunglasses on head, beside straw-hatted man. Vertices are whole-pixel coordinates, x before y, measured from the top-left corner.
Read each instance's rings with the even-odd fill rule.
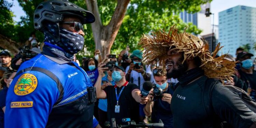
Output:
[[[163,93],[173,95],[173,92],[173,85],[171,83],[168,83],[168,89]],[[161,119],[163,124],[165,125],[164,128],[173,128],[173,115],[171,112],[170,104],[166,101],[162,101],[161,98],[154,101],[151,119],[153,123],[158,123],[159,119]]]

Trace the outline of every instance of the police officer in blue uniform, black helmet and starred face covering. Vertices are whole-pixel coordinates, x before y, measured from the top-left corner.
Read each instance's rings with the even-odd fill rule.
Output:
[[[66,0],[39,4],[34,28],[44,33],[45,45],[10,85],[6,128],[93,127],[94,88],[72,59],[84,45],[83,25],[94,21],[92,13]]]

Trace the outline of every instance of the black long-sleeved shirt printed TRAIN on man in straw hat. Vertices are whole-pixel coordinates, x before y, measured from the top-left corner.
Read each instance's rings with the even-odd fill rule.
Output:
[[[212,90],[211,100],[214,116],[208,116],[202,97],[206,76],[185,86],[178,86],[172,97],[171,110],[175,128],[212,128],[214,120],[227,121],[235,128],[248,128],[256,122],[256,114],[222,83],[218,82]],[[207,84],[208,85],[208,84]]]

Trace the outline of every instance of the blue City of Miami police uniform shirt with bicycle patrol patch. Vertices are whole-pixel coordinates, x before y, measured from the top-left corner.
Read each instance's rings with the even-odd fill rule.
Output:
[[[6,128],[81,127],[85,122],[90,122],[87,126],[92,127],[93,113],[84,114],[85,110],[93,110],[93,105],[86,101],[87,87],[93,86],[89,77],[77,63],[61,59],[55,62],[54,59],[38,54],[20,66],[6,97]],[[60,94],[59,85],[52,77],[29,70],[34,67],[56,75],[62,84],[63,94]],[[25,72],[18,74],[22,70]],[[62,98],[56,104],[60,96]]]

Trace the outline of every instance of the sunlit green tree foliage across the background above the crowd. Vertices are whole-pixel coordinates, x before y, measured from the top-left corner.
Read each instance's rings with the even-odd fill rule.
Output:
[[[43,2],[43,0],[17,0],[25,11],[26,16],[22,17],[22,20],[16,24],[14,24],[12,19],[14,16],[13,13],[9,11],[12,3],[8,3],[5,0],[0,1],[1,34],[16,42],[24,43],[28,40],[30,33],[34,31],[33,13],[38,4]],[[84,0],[70,1],[86,9]],[[185,27],[189,26],[186,29],[187,32],[199,34],[201,30],[195,25],[182,22],[179,18],[179,12],[183,10],[187,10],[189,13],[198,12],[200,11],[200,5],[209,1],[211,0],[131,0],[111,51],[117,53],[121,49],[124,49],[126,45],[130,46],[131,51],[138,49],[140,47],[137,44],[143,33],[150,34],[157,29],[168,30],[172,25],[176,25],[180,31],[183,31]],[[116,0],[98,0],[103,25],[107,25],[110,22],[116,5]],[[6,22],[6,20],[8,20],[8,22]],[[6,24],[9,24],[9,27],[2,27],[6,26]],[[90,25],[85,25],[84,28],[85,47],[80,55],[92,55],[95,50],[93,32]],[[10,32],[5,32],[6,30]],[[42,42],[43,34],[38,31],[36,34],[39,41]]]

